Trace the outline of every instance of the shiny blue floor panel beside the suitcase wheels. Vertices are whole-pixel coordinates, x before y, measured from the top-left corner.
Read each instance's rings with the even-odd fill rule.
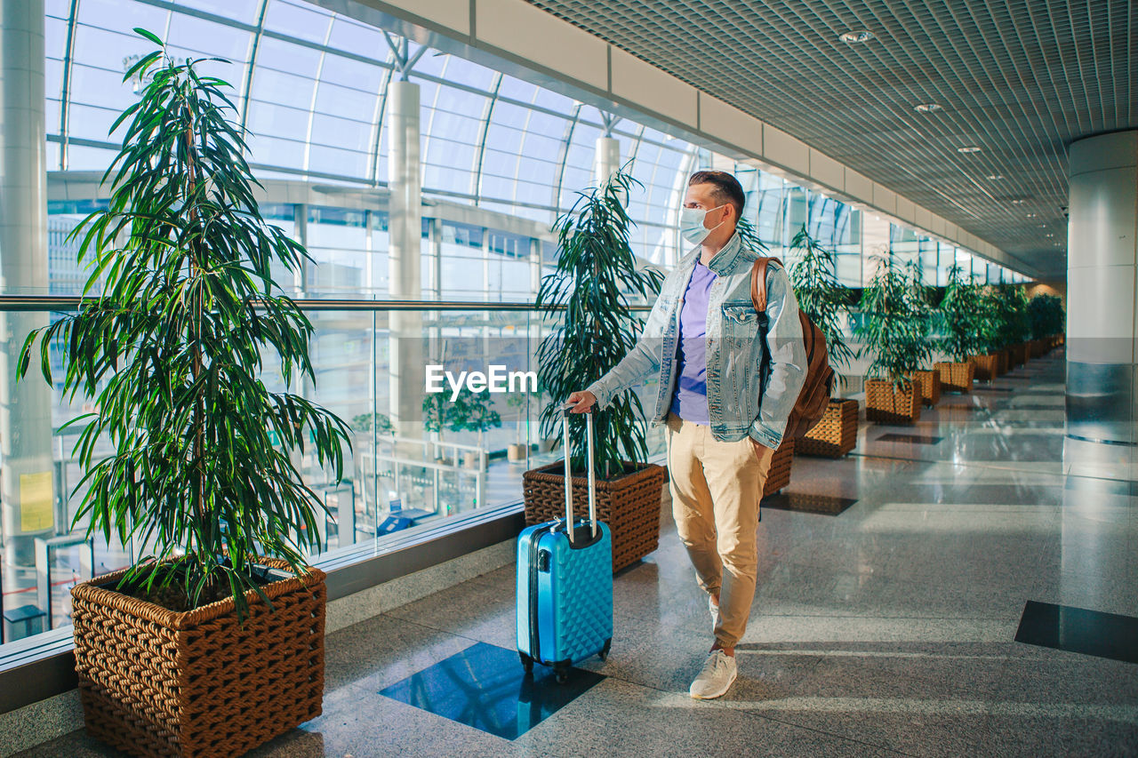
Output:
[[[526,676],[517,651],[479,642],[379,693],[513,740],[603,678],[574,668],[558,684],[552,669],[539,665]]]

